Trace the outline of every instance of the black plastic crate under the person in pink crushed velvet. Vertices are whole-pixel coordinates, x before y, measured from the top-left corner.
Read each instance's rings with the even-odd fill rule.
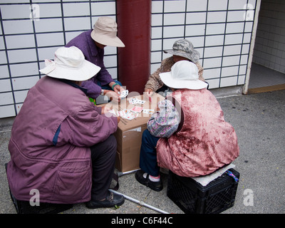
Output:
[[[239,178],[239,172],[229,169]],[[186,214],[218,214],[234,205],[237,185],[227,173],[202,186],[191,177],[180,177],[169,172],[167,197]]]

